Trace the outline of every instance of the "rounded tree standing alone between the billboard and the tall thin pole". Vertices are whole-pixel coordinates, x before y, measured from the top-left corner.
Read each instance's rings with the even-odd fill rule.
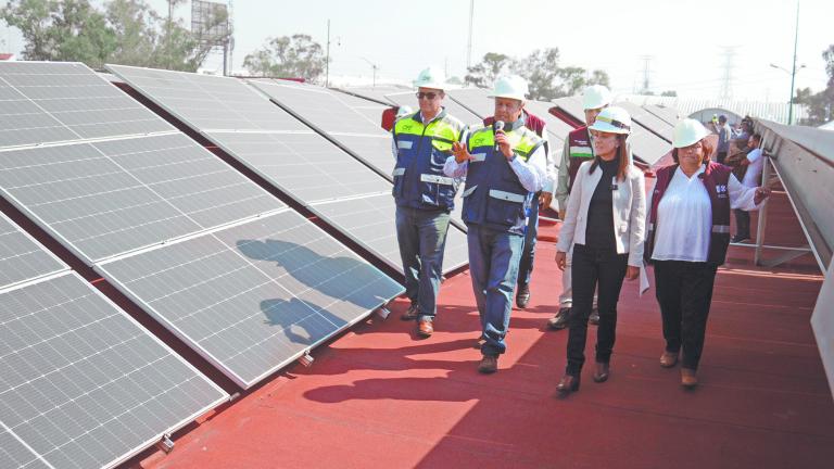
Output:
[[[317,81],[325,72],[327,59],[321,46],[308,35],[271,38],[267,45],[243,59],[250,74]]]

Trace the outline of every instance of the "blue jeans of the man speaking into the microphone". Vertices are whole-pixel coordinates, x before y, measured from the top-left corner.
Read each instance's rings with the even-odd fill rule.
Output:
[[[481,331],[486,341],[481,345],[481,353],[500,355],[507,348],[504,338],[509,328],[525,238],[478,225],[467,227],[469,274],[481,318]]]

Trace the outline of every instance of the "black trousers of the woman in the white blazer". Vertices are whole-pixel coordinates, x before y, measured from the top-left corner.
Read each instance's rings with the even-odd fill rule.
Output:
[[[620,299],[622,279],[629,255],[617,254],[611,249],[573,245],[573,308],[568,333],[568,367],[566,373],[579,376],[585,363],[587,318],[598,284],[599,327],[596,330],[596,362],[608,363],[617,331],[617,301]]]

